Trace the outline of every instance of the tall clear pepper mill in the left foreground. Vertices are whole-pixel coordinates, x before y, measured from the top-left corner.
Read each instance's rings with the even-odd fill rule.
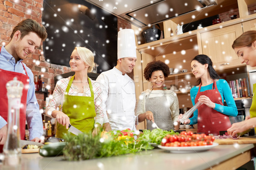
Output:
[[[23,83],[14,77],[6,83],[8,96],[8,130],[7,139],[3,145],[4,161],[7,166],[20,164],[20,100],[23,91]]]

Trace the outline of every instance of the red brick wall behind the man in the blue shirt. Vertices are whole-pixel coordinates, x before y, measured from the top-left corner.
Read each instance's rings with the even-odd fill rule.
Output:
[[[42,23],[43,0],[0,0],[0,46],[10,41],[12,28],[21,20],[31,18]],[[46,62],[42,51],[36,50],[35,54],[24,59],[24,63],[32,70],[34,75],[41,75],[42,82],[52,94],[54,77],[58,74],[70,72],[66,66],[54,65]],[[45,105],[44,95],[36,94],[40,108]]]

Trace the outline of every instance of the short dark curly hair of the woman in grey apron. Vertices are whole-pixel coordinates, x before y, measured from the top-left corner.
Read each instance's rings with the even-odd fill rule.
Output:
[[[149,81],[152,73],[154,71],[159,71],[159,70],[163,71],[164,77],[168,77],[168,75],[170,74],[169,67],[168,65],[166,65],[166,63],[161,62],[160,60],[149,62],[144,69],[144,74],[143,74],[144,78]]]

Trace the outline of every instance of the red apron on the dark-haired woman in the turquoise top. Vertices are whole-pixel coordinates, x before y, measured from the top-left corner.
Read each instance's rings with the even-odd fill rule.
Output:
[[[195,103],[198,102],[199,96],[207,96],[209,99],[216,103],[223,105],[221,94],[218,91],[216,82],[213,81],[212,90],[206,90],[200,92],[201,85],[198,89],[198,94],[195,97]],[[213,108],[209,108],[207,105],[201,105],[198,108],[198,133],[213,133],[214,136],[219,135],[219,131],[227,130],[231,127],[229,117],[223,113],[220,113]]]

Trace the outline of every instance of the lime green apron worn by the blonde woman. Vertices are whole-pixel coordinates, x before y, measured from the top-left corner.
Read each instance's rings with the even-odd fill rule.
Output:
[[[64,96],[62,112],[70,118],[70,124],[82,132],[92,132],[94,128],[94,117],[96,116],[94,105],[93,86],[88,77],[91,96],[70,96],[68,92],[75,76],[71,77]],[[57,122],[56,137],[62,138],[67,133],[66,126]],[[72,134],[75,136],[74,134]]]

